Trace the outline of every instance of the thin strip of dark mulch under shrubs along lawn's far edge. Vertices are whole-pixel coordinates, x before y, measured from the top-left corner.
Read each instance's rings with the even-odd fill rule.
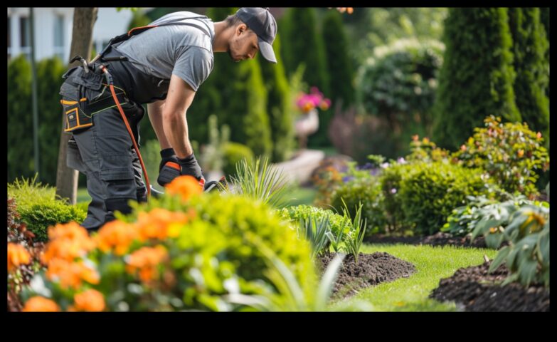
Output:
[[[485,244],[484,237],[477,237],[474,241],[470,241],[470,237],[454,237],[450,233],[437,232],[428,237],[393,237],[383,234],[374,234],[366,237],[364,242],[368,244],[429,244],[431,246],[459,246],[459,247],[476,247],[488,248]],[[501,247],[508,244],[504,242]]]

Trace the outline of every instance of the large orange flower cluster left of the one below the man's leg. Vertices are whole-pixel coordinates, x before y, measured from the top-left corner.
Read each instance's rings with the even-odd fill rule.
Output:
[[[56,224],[55,227],[50,227],[48,237],[51,242],[47,244],[46,250],[41,256],[44,264],[48,264],[51,259],[55,258],[73,261],[95,248],[95,241],[89,237],[87,230],[76,222]]]

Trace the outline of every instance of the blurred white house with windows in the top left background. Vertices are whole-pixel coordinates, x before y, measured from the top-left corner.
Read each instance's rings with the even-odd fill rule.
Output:
[[[147,10],[143,8],[141,10]],[[132,11],[114,7],[100,7],[93,28],[93,46],[100,52],[110,38],[127,31]],[[33,8],[35,26],[35,59],[59,56],[62,61],[70,61],[72,42],[73,7]],[[29,8],[8,8],[8,60],[24,53],[31,58],[31,37],[29,29]]]

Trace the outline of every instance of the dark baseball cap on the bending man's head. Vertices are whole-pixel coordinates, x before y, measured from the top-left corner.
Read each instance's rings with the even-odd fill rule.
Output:
[[[277,36],[277,21],[275,21],[269,9],[242,7],[238,9],[236,16],[258,35],[261,55],[267,61],[277,63],[275,51],[272,51],[272,42],[275,41],[275,36]]]

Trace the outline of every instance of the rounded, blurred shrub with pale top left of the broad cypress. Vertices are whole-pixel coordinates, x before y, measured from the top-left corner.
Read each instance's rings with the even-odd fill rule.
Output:
[[[430,132],[444,48],[439,41],[400,39],[376,48],[359,70],[361,103],[368,113],[388,120],[397,145],[413,126]]]

